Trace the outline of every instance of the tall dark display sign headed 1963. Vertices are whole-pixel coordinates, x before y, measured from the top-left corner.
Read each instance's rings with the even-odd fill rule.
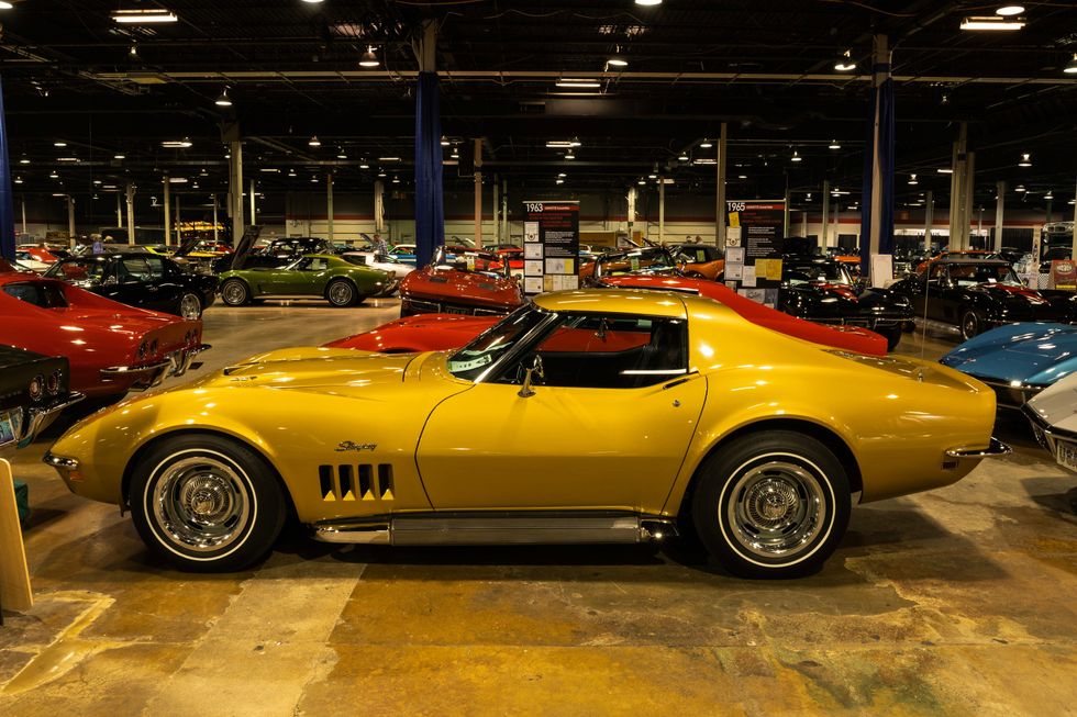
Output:
[[[523,291],[579,289],[579,202],[524,202]]]

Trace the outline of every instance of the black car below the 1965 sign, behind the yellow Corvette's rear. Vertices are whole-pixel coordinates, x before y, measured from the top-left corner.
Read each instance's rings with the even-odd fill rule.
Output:
[[[833,259],[782,258],[778,309],[820,324],[863,326],[885,336],[891,351],[914,325],[907,296],[863,289],[848,267]]]

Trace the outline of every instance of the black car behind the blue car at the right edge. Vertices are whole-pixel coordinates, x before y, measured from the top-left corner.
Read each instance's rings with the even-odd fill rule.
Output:
[[[934,259],[890,290],[908,296],[918,318],[956,329],[965,340],[1003,324],[1077,321],[1074,292],[1030,289],[1004,259]]]

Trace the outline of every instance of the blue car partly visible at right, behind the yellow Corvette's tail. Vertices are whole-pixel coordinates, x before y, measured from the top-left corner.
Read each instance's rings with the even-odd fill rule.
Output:
[[[940,362],[991,386],[999,407],[1020,408],[1040,391],[1077,371],[1077,326],[999,326],[965,341]]]

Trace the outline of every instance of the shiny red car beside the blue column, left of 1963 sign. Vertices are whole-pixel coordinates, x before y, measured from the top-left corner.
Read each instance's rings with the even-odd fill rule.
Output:
[[[400,282],[400,315],[470,314],[503,316],[523,304],[523,289],[512,277],[470,271],[452,262],[444,248],[433,261]]]

